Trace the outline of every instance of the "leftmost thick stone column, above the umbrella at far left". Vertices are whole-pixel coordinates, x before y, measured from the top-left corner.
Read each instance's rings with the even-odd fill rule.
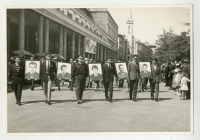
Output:
[[[18,12],[18,49],[24,50],[25,46],[25,16],[24,16],[24,9],[19,9]]]

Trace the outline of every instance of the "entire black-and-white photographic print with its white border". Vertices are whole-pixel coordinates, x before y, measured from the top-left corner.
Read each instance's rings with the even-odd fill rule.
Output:
[[[193,133],[192,4],[4,10],[6,135]]]

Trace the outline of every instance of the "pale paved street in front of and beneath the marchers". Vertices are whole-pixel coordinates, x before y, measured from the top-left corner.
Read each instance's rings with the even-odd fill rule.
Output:
[[[8,133],[44,132],[188,132],[190,100],[180,100],[160,84],[159,102],[150,100],[150,90],[129,100],[126,89],[114,88],[113,103],[105,101],[102,88],[87,89],[77,104],[75,91],[61,87],[52,92],[52,105],[44,103],[40,86],[23,90],[22,106],[14,93],[7,94]]]

